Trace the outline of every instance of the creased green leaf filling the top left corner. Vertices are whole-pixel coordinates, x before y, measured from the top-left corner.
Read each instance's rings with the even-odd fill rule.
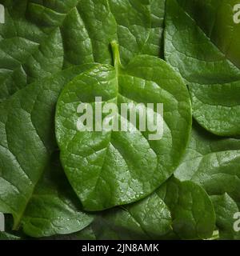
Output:
[[[0,102],[38,78],[62,70],[61,31],[34,24],[26,13],[29,1],[0,1],[6,22],[0,25]]]

